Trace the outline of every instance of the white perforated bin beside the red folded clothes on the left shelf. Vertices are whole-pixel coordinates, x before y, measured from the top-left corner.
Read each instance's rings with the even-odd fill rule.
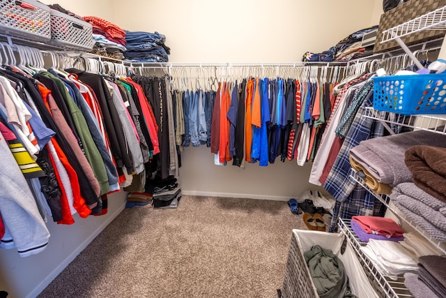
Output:
[[[51,43],[75,50],[93,49],[93,27],[58,10],[51,10]]]

